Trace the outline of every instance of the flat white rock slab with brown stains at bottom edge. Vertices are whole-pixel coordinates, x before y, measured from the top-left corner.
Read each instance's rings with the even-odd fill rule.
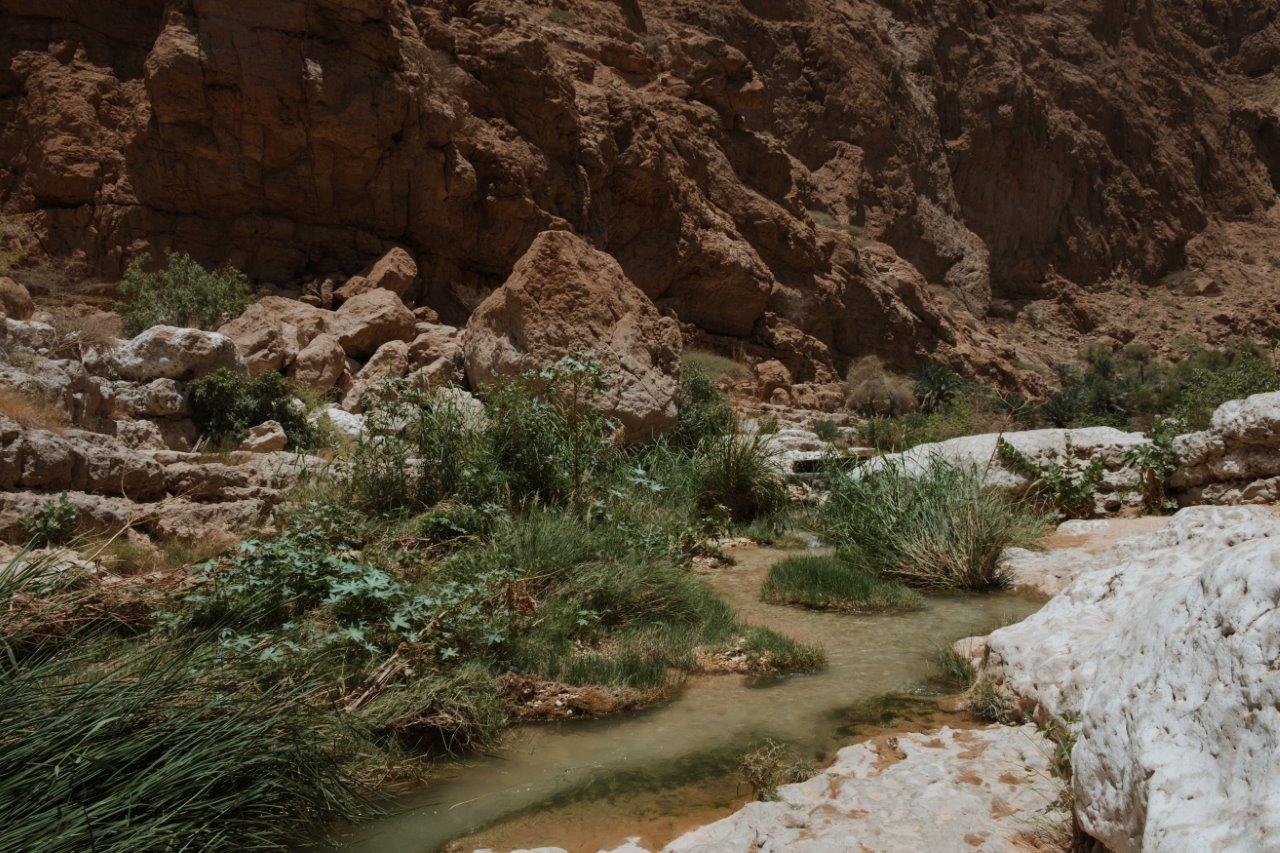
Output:
[[[667,845],[671,853],[1009,850],[1055,806],[1052,744],[1034,726],[882,735]]]

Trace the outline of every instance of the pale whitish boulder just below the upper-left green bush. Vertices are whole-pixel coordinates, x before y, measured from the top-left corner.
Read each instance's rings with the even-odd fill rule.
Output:
[[[84,366],[131,382],[198,379],[220,368],[246,373],[244,360],[229,337],[177,325],[154,325],[132,341],[90,351]]]

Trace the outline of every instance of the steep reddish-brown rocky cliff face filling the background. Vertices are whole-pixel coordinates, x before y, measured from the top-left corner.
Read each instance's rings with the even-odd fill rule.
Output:
[[[404,247],[453,323],[568,229],[796,382],[1028,386],[1274,328],[1277,61],[1263,0],[0,0],[0,202],[104,277]]]

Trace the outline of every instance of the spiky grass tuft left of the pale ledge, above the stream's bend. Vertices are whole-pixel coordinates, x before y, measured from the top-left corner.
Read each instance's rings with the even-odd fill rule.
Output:
[[[696,459],[698,507],[750,521],[780,512],[787,489],[764,435],[727,433],[700,447]]]

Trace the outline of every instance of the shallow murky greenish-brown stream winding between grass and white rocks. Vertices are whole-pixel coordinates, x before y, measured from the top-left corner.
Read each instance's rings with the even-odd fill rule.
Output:
[[[739,758],[762,738],[787,742],[818,766],[847,743],[850,708],[919,690],[931,652],[1023,619],[1038,605],[1011,593],[931,598],[884,616],[814,612],[759,601],[787,551],[746,546],[708,580],[744,621],[820,646],[828,667],[771,681],[700,676],[672,702],[607,720],[513,731],[500,754],[458,763],[396,813],[361,826],[344,848],[426,853],[442,848],[558,845],[571,853],[639,838],[657,847],[727,815],[749,792]]]

